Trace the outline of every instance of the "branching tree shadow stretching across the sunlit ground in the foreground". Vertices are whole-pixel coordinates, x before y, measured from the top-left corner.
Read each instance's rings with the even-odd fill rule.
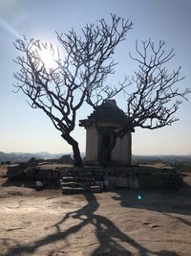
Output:
[[[77,231],[81,230],[83,227],[89,224],[95,226],[95,234],[98,242],[98,246],[91,254],[92,256],[132,255],[132,252],[123,247],[121,243],[135,248],[135,250],[138,251],[138,255],[142,256],[151,255],[152,253],[153,255],[159,256],[178,255],[173,251],[159,251],[157,253],[154,253],[146,247],[142,246],[141,244],[138,244],[138,242],[133,240],[127,234],[123,233],[113,221],[110,221],[106,217],[96,214],[99,203],[93,194],[87,193],[84,194],[84,197],[87,200],[87,204],[77,211],[67,213],[60,221],[56,222],[53,225],[55,227],[55,232],[46,237],[38,239],[31,244],[17,243],[16,245],[11,246],[5,255],[35,255],[35,251],[41,246],[67,240],[70,235],[76,233]],[[73,218],[74,220],[79,221],[79,223],[69,227],[66,230],[63,230],[62,225],[65,223],[65,221],[69,220],[69,218]],[[49,255],[57,255],[56,249],[52,251]]]

